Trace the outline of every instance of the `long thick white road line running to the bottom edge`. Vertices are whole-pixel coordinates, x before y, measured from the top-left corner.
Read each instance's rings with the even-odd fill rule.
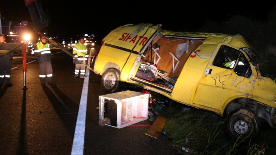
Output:
[[[89,56],[91,56],[91,53],[89,54]],[[82,96],[81,96],[79,111],[77,115],[77,123],[76,123],[76,128],[74,133],[74,140],[73,140],[71,155],[83,155],[89,72],[90,71],[87,68],[86,69],[87,77],[84,78],[83,86],[82,86]]]

